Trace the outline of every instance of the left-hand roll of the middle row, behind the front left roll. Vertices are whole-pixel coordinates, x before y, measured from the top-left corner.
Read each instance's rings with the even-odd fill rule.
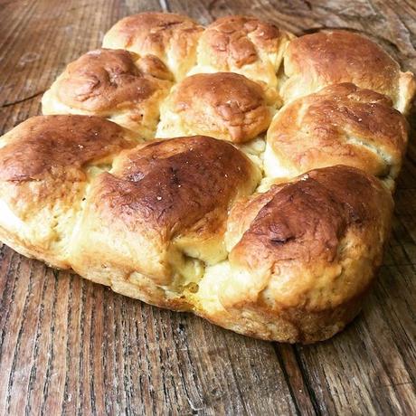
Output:
[[[71,62],[43,95],[43,114],[106,117],[143,137],[154,137],[159,106],[172,85],[170,77],[165,64],[153,55],[90,51]]]

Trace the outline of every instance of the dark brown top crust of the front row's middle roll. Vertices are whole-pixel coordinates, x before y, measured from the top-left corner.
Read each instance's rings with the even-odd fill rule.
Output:
[[[158,141],[121,157],[111,171],[118,180],[113,182],[110,175],[102,178],[104,193],[123,199],[111,206],[110,215],[136,222],[128,214],[124,217],[125,210],[134,205],[138,216],[142,211],[149,213],[147,227],[165,229],[170,238],[188,230],[206,213],[218,209],[225,215],[236,189],[251,180],[253,173],[241,152],[211,137]]]

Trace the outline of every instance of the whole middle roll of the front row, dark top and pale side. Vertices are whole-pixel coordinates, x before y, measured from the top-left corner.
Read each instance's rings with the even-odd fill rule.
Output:
[[[136,285],[136,297],[149,303],[179,307],[204,263],[226,258],[228,210],[259,181],[246,156],[211,137],[124,152],[91,184],[72,267],[115,290]]]

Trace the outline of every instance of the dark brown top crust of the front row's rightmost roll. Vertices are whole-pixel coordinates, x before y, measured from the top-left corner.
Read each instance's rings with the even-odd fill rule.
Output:
[[[310,259],[333,262],[348,228],[368,227],[380,216],[382,200],[374,199],[375,184],[370,175],[334,166],[272,187],[266,195],[260,194],[260,201],[269,199],[269,194],[273,197],[260,208],[233,248],[230,260],[240,258],[252,269],[269,257],[273,263]],[[254,250],[256,246],[258,250]]]

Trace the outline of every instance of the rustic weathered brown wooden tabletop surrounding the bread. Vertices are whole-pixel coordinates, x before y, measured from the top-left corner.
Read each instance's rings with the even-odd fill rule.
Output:
[[[0,0],[0,130],[37,114],[67,62],[144,10],[351,28],[416,71],[414,0]],[[415,414],[415,177],[411,145],[380,279],[361,317],[318,345],[238,336],[1,247],[0,414]]]

